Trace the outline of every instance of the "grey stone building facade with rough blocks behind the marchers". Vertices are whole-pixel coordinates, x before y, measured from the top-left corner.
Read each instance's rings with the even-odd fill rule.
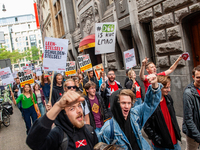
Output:
[[[200,31],[200,0],[46,1],[50,1],[52,20],[58,18],[58,23],[53,23],[54,37],[69,39],[69,60],[89,53],[93,65],[104,62],[103,55],[94,55],[94,48],[79,52],[78,46],[84,37],[95,33],[95,23],[117,22],[116,50],[106,54],[106,69],[114,69],[116,79],[122,84],[125,79],[123,52],[128,49],[135,50],[137,66],[134,70],[137,75],[146,56],[160,72],[168,69],[180,54],[188,52],[191,60],[180,61],[170,75],[176,113],[182,116],[184,88],[192,81],[192,68],[200,64],[200,45],[196,44],[200,39],[196,34]],[[58,30],[62,34],[56,34]]]

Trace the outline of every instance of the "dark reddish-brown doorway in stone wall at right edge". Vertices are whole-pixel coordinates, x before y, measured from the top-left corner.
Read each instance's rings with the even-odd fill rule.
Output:
[[[200,13],[195,13],[188,19],[190,42],[194,67],[200,65]]]

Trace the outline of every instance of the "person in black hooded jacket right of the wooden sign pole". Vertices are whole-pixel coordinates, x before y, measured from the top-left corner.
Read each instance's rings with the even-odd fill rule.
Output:
[[[53,90],[52,90],[52,97],[51,97],[51,104],[52,106],[56,103],[59,97],[61,97],[64,93],[63,90],[63,76],[60,73],[57,73],[54,76],[53,80]]]

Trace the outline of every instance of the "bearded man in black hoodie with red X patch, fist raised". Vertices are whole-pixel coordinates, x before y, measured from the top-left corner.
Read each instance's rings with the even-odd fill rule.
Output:
[[[84,125],[82,101],[84,98],[72,90],[64,93],[35,121],[26,139],[28,146],[33,150],[92,150],[98,140],[94,129]],[[56,127],[51,129],[54,122]]]

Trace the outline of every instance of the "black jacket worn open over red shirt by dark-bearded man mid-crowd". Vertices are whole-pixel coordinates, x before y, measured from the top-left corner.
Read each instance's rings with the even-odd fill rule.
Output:
[[[119,82],[115,81],[118,85],[119,89],[122,89],[122,86],[120,85]],[[106,87],[103,91],[100,90],[100,94],[101,97],[104,99],[104,104],[106,106],[106,109],[108,109],[108,105],[109,105],[109,98],[111,96],[111,90],[110,90],[110,85],[108,84],[108,80],[105,82],[106,83]]]

